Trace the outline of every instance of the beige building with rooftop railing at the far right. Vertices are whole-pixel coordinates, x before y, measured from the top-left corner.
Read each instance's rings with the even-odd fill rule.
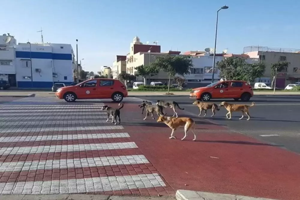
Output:
[[[244,47],[244,53],[250,58],[259,58],[266,64],[264,77],[258,82],[271,83],[271,65],[277,62],[289,62],[289,67],[277,72],[276,87],[284,88],[290,83],[300,81],[300,49],[269,48],[250,46]]]

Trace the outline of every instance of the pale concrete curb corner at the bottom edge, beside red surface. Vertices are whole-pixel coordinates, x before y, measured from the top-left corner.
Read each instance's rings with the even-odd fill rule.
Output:
[[[276,200],[270,198],[255,198],[250,196],[230,195],[210,192],[196,192],[179,189],[176,191],[177,200]]]

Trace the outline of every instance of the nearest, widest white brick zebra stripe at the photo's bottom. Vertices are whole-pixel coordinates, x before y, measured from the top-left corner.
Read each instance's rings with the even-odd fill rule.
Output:
[[[0,183],[4,194],[74,194],[166,186],[158,174]]]

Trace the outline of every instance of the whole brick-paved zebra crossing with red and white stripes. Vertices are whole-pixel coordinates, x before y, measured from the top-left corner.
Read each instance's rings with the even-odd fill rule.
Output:
[[[106,122],[103,105],[51,97],[1,104],[0,194],[166,192],[130,132]]]

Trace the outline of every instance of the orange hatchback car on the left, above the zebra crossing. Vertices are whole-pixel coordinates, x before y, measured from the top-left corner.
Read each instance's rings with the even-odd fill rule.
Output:
[[[55,96],[66,102],[91,98],[111,98],[114,102],[121,102],[128,96],[128,91],[120,80],[96,78],[74,86],[61,87],[56,91]]]

